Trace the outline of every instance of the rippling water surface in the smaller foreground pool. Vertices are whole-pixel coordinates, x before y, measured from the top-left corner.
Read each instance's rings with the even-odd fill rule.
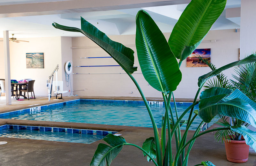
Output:
[[[0,130],[0,137],[91,144],[97,140],[103,139],[105,136],[68,132],[4,129]]]

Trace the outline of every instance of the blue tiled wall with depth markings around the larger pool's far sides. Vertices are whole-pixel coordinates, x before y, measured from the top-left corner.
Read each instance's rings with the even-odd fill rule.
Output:
[[[56,106],[61,106],[61,105],[70,105],[74,103],[93,103],[93,102],[105,102],[105,103],[135,103],[135,104],[144,104],[143,101],[127,101],[127,100],[94,100],[94,99],[76,99],[72,101],[67,101],[67,102],[60,102],[60,103],[55,103],[55,104],[50,104],[50,105],[44,105],[44,106],[37,106],[29,109],[22,109],[22,110],[16,110],[16,111],[11,111],[11,112],[5,112],[0,114],[0,118],[8,115],[13,115],[13,114],[27,114],[27,113],[37,113],[41,109],[45,108],[51,108],[51,107],[56,107]],[[164,107],[164,102],[157,102],[157,101],[148,101],[149,105],[154,105],[154,106],[163,106]],[[171,105],[174,103],[171,102]],[[191,102],[176,102],[176,105],[187,105],[190,106],[192,103]]]

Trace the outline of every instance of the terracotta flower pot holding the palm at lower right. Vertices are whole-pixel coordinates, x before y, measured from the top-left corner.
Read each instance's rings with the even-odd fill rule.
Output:
[[[249,156],[249,145],[243,141],[225,140],[227,159],[230,162],[247,162]]]

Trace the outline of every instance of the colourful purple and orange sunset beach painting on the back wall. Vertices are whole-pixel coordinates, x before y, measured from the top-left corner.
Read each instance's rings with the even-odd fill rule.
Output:
[[[211,62],[211,49],[195,49],[195,51],[187,57],[187,67],[208,67],[204,61],[198,58],[199,56]]]

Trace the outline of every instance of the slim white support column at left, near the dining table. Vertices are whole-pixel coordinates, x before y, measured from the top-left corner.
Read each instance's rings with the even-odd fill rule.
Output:
[[[5,97],[6,105],[11,105],[11,69],[10,69],[10,49],[9,31],[4,31],[4,70],[5,70]]]

